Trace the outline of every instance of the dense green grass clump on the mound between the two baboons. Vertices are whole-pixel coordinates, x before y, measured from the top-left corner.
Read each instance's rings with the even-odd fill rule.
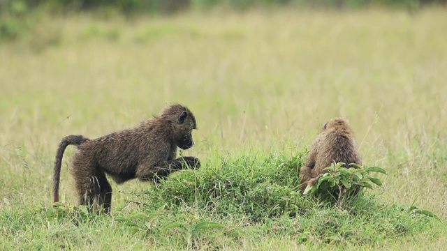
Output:
[[[309,207],[309,201],[303,201],[296,192],[302,163],[302,155],[249,155],[233,161],[222,158],[217,165],[171,176],[146,195],[156,207],[189,204],[222,218],[244,215],[252,222],[262,222]]]

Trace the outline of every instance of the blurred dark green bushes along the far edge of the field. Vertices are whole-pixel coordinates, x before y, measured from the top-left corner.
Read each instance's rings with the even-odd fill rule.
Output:
[[[0,40],[24,36],[32,28],[29,15],[69,15],[89,12],[100,17],[116,13],[135,15],[172,15],[188,10],[209,11],[225,8],[244,11],[252,8],[359,9],[371,7],[418,10],[424,6],[445,5],[446,0],[1,0]]]

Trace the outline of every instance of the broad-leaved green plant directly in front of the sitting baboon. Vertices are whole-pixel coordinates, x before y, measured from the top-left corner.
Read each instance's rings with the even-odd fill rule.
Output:
[[[351,168],[344,167],[343,162],[332,163],[330,167],[326,167],[325,173],[318,183],[307,186],[304,195],[314,195],[318,199],[335,201],[338,206],[343,206],[349,197],[358,195],[362,188],[372,189],[372,183],[381,186],[382,182],[379,178],[374,178],[369,173],[379,172],[387,174],[380,167],[366,167],[361,165],[349,164]]]

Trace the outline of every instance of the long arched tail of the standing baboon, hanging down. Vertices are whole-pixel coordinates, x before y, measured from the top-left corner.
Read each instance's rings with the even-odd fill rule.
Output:
[[[59,181],[61,178],[61,165],[62,156],[64,156],[64,151],[68,145],[79,146],[80,144],[87,142],[89,139],[82,135],[68,135],[61,140],[59,148],[56,153],[56,160],[54,161],[54,190],[53,190],[53,202],[59,201]]]

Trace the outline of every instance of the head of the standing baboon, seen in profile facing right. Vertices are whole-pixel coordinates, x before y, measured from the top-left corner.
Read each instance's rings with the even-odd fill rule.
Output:
[[[197,129],[194,114],[183,105],[170,105],[163,112],[173,126],[173,140],[180,149],[186,150],[194,145],[192,131]]]

